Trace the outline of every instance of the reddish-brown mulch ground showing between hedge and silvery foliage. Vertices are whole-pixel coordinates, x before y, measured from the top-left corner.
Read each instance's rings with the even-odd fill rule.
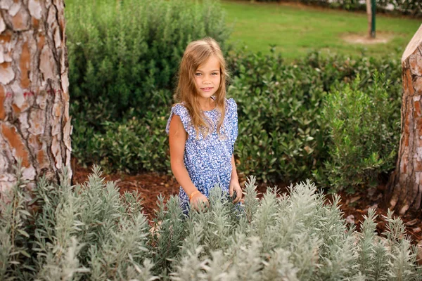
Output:
[[[82,166],[73,166],[73,178],[72,183],[84,183],[88,180],[88,176],[91,174],[91,169],[83,168]],[[171,195],[177,195],[179,192],[179,185],[175,181],[174,177],[155,174],[145,173],[138,174],[135,176],[128,174],[103,174],[106,181],[115,181],[120,193],[138,191],[143,200],[143,208],[146,216],[150,222],[152,222],[155,216],[155,210],[157,209],[157,197],[162,195],[165,198],[169,198]],[[241,185],[243,186],[242,182]],[[286,184],[278,183],[274,184],[278,186],[279,192],[287,192]],[[270,185],[270,186],[274,186]],[[268,184],[261,183],[257,187],[257,191],[260,192],[259,197],[262,197],[262,193],[267,190]],[[357,226],[357,230],[360,230],[361,222],[364,216],[368,214],[368,209],[376,209],[376,222],[378,223],[377,232],[382,235],[385,231],[385,216],[387,215],[387,207],[383,202],[383,194],[385,193],[385,185],[379,185],[378,188],[370,190],[364,190],[362,192],[347,194],[346,192],[340,192],[340,209],[343,211],[343,216],[346,218],[348,223],[354,223]],[[327,195],[327,199],[331,200],[332,195]],[[406,226],[407,234],[412,239],[412,244],[417,244],[422,240],[422,219],[420,214],[407,214],[402,216],[402,221]]]

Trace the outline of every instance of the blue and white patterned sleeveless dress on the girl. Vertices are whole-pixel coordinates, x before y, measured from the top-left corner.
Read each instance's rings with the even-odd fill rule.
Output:
[[[191,116],[184,105],[173,105],[172,112],[167,121],[166,133],[170,131],[170,120],[173,115],[179,115],[185,131],[188,133],[184,151],[184,164],[188,171],[193,185],[205,195],[215,185],[219,185],[223,192],[229,192],[229,183],[231,177],[231,156],[233,155],[234,142],[238,136],[238,115],[237,105],[233,98],[226,99],[226,112],[221,132],[223,136],[217,133],[217,122],[219,111],[204,111],[205,116],[212,121],[212,130],[204,138],[202,133],[196,136],[196,130],[191,124]],[[189,198],[182,187],[179,188],[179,199],[181,209],[188,213]]]

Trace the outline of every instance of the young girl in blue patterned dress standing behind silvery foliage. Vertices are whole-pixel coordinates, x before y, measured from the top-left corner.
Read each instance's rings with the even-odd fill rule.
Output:
[[[170,163],[181,185],[179,198],[187,213],[191,207],[208,205],[215,185],[241,200],[234,163],[238,136],[237,105],[226,99],[226,64],[214,39],[193,41],[186,47],[179,68],[179,84],[166,132]]]

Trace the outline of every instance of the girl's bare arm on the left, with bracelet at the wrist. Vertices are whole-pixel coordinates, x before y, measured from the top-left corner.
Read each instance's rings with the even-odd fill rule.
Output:
[[[172,120],[170,121],[169,132],[170,164],[172,172],[177,182],[181,185],[189,198],[193,192],[196,192],[191,200],[195,198],[194,202],[196,202],[196,198],[198,198],[200,201],[207,202],[207,197],[202,195],[198,191],[198,188],[193,185],[191,178],[189,177],[188,170],[186,170],[186,166],[184,165],[184,148],[187,138],[188,133],[186,133],[180,117],[178,115],[173,115]]]

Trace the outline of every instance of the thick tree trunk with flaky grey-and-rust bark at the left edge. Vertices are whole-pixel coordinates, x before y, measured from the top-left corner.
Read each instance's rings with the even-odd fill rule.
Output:
[[[0,197],[16,178],[58,183],[70,169],[68,58],[63,0],[0,0]],[[1,202],[1,200],[0,200]]]

